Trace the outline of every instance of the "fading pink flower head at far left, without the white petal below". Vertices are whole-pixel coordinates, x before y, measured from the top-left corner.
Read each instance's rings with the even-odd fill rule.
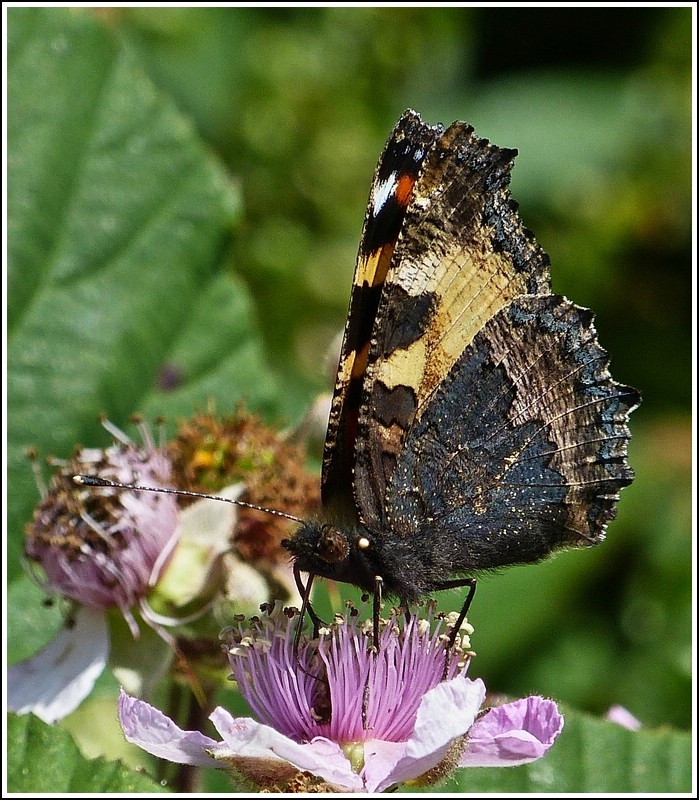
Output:
[[[107,448],[79,450],[60,466],[27,526],[25,554],[39,564],[47,592],[92,608],[117,607],[134,636],[132,609],[157,582],[177,544],[177,501],[172,495],[78,487],[74,475],[165,486],[169,459],[141,426],[144,446],[122,431]]]

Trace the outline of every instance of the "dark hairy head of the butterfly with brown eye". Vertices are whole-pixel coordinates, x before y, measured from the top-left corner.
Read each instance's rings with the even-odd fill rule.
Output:
[[[289,539],[282,541],[301,572],[352,583],[372,591],[376,569],[373,548],[365,531],[348,531],[328,522],[305,522]]]

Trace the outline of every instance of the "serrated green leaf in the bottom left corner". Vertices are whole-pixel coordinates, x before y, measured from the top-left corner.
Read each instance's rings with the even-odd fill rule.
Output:
[[[7,742],[7,788],[13,793],[165,791],[121,762],[84,758],[70,734],[32,715],[9,715]]]

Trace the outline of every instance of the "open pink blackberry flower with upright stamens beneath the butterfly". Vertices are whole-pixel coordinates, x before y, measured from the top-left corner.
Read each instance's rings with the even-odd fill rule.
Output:
[[[394,613],[380,635],[337,617],[295,642],[300,619],[265,607],[222,634],[259,721],[217,708],[216,741],[183,731],[122,693],[128,741],[161,758],[213,766],[263,789],[381,792],[429,784],[460,766],[515,766],[543,756],[562,728],[555,703],[530,697],[480,715],[485,686],[466,677],[467,639],[447,655],[448,623]]]

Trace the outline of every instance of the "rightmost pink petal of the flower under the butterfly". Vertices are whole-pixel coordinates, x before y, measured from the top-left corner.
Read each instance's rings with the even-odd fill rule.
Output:
[[[491,708],[468,735],[460,767],[516,767],[545,755],[563,728],[553,700],[527,697]]]

